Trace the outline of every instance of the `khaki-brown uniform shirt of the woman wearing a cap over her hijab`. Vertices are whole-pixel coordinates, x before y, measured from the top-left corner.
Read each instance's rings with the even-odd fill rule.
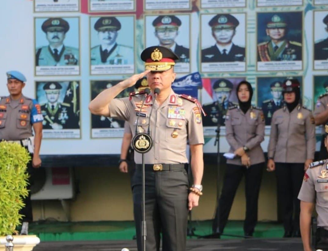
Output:
[[[290,113],[286,106],[272,116],[268,158],[282,163],[304,163],[314,159],[315,125],[312,112],[298,105]]]

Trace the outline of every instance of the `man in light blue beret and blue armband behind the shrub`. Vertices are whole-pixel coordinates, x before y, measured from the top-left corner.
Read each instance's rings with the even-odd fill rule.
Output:
[[[10,95],[0,97],[0,140],[16,142],[26,147],[30,152],[32,161],[27,165],[27,172],[30,175],[27,189],[30,190],[34,181],[34,168],[41,166],[39,152],[43,117],[37,101],[22,94],[26,82],[25,76],[18,71],[9,71],[7,72],[7,79]],[[23,215],[21,234],[28,234],[29,222],[33,221],[31,191],[23,201],[25,207],[19,212]]]

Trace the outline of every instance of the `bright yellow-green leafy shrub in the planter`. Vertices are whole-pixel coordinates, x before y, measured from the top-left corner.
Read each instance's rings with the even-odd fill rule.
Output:
[[[27,163],[31,157],[25,147],[6,141],[0,142],[0,236],[12,234],[20,224],[19,210],[28,196]]]

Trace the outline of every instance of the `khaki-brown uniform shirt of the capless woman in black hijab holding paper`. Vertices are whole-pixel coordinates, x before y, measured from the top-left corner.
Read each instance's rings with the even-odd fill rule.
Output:
[[[260,143],[264,140],[264,116],[261,109],[251,107],[244,114],[239,106],[228,109],[226,120],[226,138],[230,145],[229,152],[246,146],[249,149],[251,165],[264,162]],[[241,165],[241,158],[227,159],[228,164]]]

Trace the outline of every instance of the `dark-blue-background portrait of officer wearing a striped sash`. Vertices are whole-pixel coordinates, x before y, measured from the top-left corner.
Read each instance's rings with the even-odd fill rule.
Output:
[[[302,60],[301,12],[258,13],[257,61]]]

